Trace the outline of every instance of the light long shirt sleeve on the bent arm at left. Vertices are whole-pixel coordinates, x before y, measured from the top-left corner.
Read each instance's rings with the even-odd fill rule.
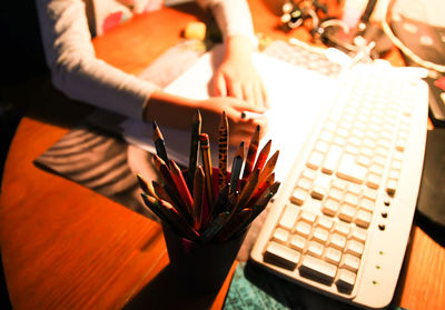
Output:
[[[96,58],[81,0],[36,0],[52,83],[71,99],[142,119],[158,89]]]

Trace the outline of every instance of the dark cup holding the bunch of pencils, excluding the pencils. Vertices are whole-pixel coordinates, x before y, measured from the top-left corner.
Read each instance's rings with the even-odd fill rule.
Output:
[[[170,267],[181,288],[216,292],[222,286],[246,238],[247,229],[221,243],[200,243],[178,236],[162,224]]]

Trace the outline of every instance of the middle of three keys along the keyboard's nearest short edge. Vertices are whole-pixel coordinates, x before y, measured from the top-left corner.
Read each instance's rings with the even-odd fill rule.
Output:
[[[306,256],[299,267],[299,273],[303,277],[330,284],[337,273],[337,267],[312,256]]]

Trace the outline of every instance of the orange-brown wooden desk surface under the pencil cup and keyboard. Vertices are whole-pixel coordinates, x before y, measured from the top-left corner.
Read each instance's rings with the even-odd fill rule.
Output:
[[[274,1],[249,2],[257,31],[287,38],[274,30]],[[96,39],[98,57],[139,72],[177,43],[187,22],[196,19],[192,6],[181,8],[137,17]],[[129,40],[127,33],[131,48],[120,43]],[[304,30],[293,34],[308,39]],[[397,51],[389,59],[402,63]],[[55,91],[49,81],[33,98],[12,141],[0,197],[1,251],[14,309],[220,309],[230,277],[217,296],[180,293],[172,286],[159,224],[32,164],[90,111]],[[443,307],[444,266],[444,248],[415,227],[396,294],[400,306]]]

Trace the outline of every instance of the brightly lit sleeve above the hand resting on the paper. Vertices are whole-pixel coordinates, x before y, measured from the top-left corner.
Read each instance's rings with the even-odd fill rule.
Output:
[[[202,8],[212,11],[222,32],[222,38],[245,36],[256,48],[258,39],[254,32],[250,9],[246,0],[196,0]]]

